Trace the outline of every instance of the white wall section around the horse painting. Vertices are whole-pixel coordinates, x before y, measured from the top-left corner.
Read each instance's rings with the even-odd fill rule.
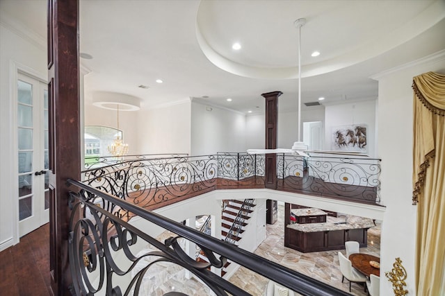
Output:
[[[357,101],[325,106],[324,150],[332,149],[332,128],[340,125],[366,124],[367,155],[375,157],[375,104],[376,100]]]

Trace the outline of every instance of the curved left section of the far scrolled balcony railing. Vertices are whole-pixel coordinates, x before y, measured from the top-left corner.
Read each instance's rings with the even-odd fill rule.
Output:
[[[128,160],[83,171],[83,182],[150,207],[213,190],[217,166],[214,155]]]

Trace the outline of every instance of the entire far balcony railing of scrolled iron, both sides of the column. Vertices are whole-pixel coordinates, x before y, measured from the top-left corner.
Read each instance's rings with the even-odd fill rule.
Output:
[[[155,209],[215,189],[264,188],[265,157],[218,153],[128,159],[83,172],[83,182]],[[380,203],[380,159],[277,155],[277,189]]]

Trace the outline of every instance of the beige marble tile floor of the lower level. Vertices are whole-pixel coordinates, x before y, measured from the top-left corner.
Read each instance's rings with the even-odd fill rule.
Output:
[[[156,239],[164,241],[165,238],[175,236],[171,232],[163,232]],[[181,245],[183,242],[179,240]],[[139,254],[146,254],[154,250],[154,247],[147,246]],[[263,256],[270,261],[297,270],[305,275],[314,277],[326,284],[337,287],[348,292],[349,283],[341,283],[341,272],[339,268],[338,250],[327,252],[302,253],[284,247],[284,206],[278,206],[278,220],[273,225],[266,225],[266,239],[259,245],[255,254]],[[345,250],[341,250],[346,254]],[[380,256],[380,227],[373,227],[368,230],[368,247],[361,248],[360,252]],[[136,265],[133,276],[136,272],[153,262],[153,258],[147,256]],[[257,275],[247,268],[239,268],[229,279],[233,284],[242,288],[252,295],[264,295],[268,279]],[[185,284],[186,283],[186,284]],[[179,290],[186,295],[211,295],[209,288],[195,279],[186,277],[184,269],[172,263],[156,263],[150,271],[144,275],[143,284],[140,286],[139,295],[163,295],[172,290]],[[351,294],[366,296],[363,286],[353,283]]]

